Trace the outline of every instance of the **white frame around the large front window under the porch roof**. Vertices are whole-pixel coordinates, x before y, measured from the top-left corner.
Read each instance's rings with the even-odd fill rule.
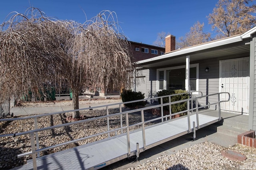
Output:
[[[196,67],[196,91],[198,91],[199,89],[199,63],[196,64],[190,64],[190,68],[191,67]],[[173,70],[173,69],[178,69],[178,68],[186,68],[186,65],[182,65],[182,66],[173,66],[173,67],[166,67],[166,68],[158,68],[156,69],[156,91],[159,92],[163,89],[159,89],[158,87],[158,83],[159,83],[159,71],[163,71],[164,70],[164,90],[166,90],[166,70]],[[184,80],[185,81],[185,80]],[[194,93],[196,94],[196,93]]]

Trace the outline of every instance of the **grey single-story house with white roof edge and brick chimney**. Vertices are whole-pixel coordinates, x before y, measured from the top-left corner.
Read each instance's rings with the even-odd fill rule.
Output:
[[[166,41],[170,41],[168,37]],[[146,89],[145,97],[154,97],[163,89],[195,90],[204,95],[229,92],[230,101],[223,103],[221,109],[248,114],[248,130],[256,130],[256,27],[240,35],[174,51],[170,47],[175,44],[168,42],[165,55],[138,62],[145,76],[145,83],[140,85]],[[206,100],[200,103],[218,99],[209,96]]]

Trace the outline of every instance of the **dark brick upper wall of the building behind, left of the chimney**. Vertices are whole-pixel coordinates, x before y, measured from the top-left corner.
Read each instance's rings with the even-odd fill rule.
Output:
[[[161,55],[161,52],[165,53],[165,49],[162,48],[162,47],[156,47],[156,46],[153,46],[153,45],[136,43],[136,42],[132,42],[132,41],[130,41],[130,43],[131,43],[131,47],[132,47],[132,55],[134,56],[135,61],[140,61],[140,60],[145,60],[145,59],[150,59],[150,58],[153,58],[153,57],[157,57],[157,56]],[[143,53],[141,51],[142,47],[148,48],[148,53]],[[139,48],[140,51],[135,51],[135,48]],[[151,54],[151,49],[158,50],[158,54],[157,55],[156,54]]]

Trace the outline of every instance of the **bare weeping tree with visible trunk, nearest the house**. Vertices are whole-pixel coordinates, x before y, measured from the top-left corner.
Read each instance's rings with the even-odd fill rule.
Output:
[[[78,94],[84,87],[131,86],[135,68],[131,47],[115,19],[114,12],[102,11],[78,27],[76,37],[64,46],[71,49],[64,75],[72,89],[74,109],[79,108]],[[73,118],[78,117],[79,112],[74,112]]]

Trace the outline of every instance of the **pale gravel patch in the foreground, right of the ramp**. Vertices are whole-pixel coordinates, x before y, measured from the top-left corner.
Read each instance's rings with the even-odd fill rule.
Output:
[[[234,150],[246,156],[244,161],[233,161],[222,156],[222,150]],[[165,153],[164,153],[165,154]],[[204,142],[180,150],[175,154],[158,157],[157,160],[148,160],[128,170],[255,170],[256,149],[237,144],[224,148],[219,145]]]

